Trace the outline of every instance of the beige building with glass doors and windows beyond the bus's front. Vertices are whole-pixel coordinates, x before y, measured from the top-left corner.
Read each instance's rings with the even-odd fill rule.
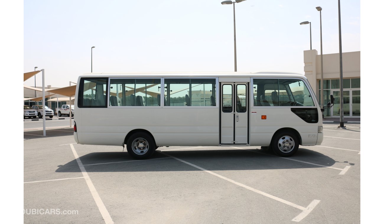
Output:
[[[360,118],[360,51],[344,52],[343,111],[344,118]],[[323,104],[335,98],[334,106],[324,111],[324,117],[340,117],[340,63],[339,54],[323,54]],[[316,50],[304,51],[304,72],[316,98],[321,92],[321,55]]]

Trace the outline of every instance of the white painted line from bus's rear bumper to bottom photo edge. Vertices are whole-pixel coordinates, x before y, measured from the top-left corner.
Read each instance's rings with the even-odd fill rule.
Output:
[[[85,170],[83,163],[81,162],[79,156],[77,155],[76,150],[74,150],[73,144],[70,144],[72,152],[74,157],[76,158],[77,164],[79,165],[79,168],[81,170],[81,173],[83,173],[83,177],[88,185],[89,190],[91,191],[91,194],[93,196],[94,201],[96,202],[96,205],[99,208],[99,211],[101,213],[101,216],[103,216],[105,224],[113,224],[111,216],[108,213],[108,210],[105,208],[103,201],[101,200],[99,194],[96,191],[96,188],[94,187],[91,179],[88,176],[87,171]]]

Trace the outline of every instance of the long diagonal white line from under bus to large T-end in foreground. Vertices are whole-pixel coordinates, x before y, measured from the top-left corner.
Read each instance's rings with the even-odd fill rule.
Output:
[[[243,187],[243,188],[245,188],[245,189],[248,189],[248,190],[253,191],[253,192],[255,192],[255,193],[258,193],[258,194],[260,194],[260,195],[264,195],[264,196],[266,196],[266,197],[268,197],[268,198],[274,199],[274,200],[276,200],[276,201],[280,201],[281,203],[284,203],[284,204],[287,204],[287,205],[292,206],[292,207],[294,207],[294,208],[297,208],[297,209],[302,210],[302,212],[301,212],[298,216],[296,216],[295,218],[292,219],[292,221],[295,221],[295,222],[300,222],[302,219],[304,219],[304,218],[305,218],[305,217],[306,217],[306,216],[313,210],[313,208],[320,202],[320,200],[313,200],[313,201],[310,203],[310,205],[309,205],[308,207],[304,208],[303,206],[300,206],[300,205],[297,205],[297,204],[295,204],[295,203],[291,203],[291,202],[286,201],[286,200],[284,200],[284,199],[278,198],[278,197],[276,197],[276,196],[270,195],[270,194],[268,194],[268,193],[265,193],[265,192],[263,192],[263,191],[260,191],[260,190],[257,190],[257,189],[255,189],[255,188],[252,188],[252,187],[250,187],[250,186],[244,185],[244,184],[242,184],[242,183],[239,183],[239,182],[234,181],[234,180],[232,180],[232,179],[229,179],[229,178],[227,178],[227,177],[223,177],[222,175],[219,175],[219,174],[214,173],[214,172],[212,172],[212,171],[206,170],[206,169],[204,169],[204,168],[202,168],[202,167],[199,167],[199,166],[197,166],[197,165],[195,165],[195,164],[191,164],[191,163],[189,163],[189,162],[187,162],[187,161],[184,161],[184,160],[182,160],[182,159],[176,158],[176,157],[174,157],[174,156],[172,156],[172,155],[168,155],[168,154],[166,154],[166,153],[164,153],[164,152],[161,152],[161,153],[164,154],[164,155],[166,155],[166,156],[169,156],[169,157],[171,157],[171,158],[173,158],[173,159],[175,159],[175,160],[178,160],[178,161],[183,162],[183,163],[185,163],[185,164],[188,164],[188,165],[190,165],[190,166],[192,166],[192,167],[195,167],[195,168],[197,168],[197,169],[199,169],[199,170],[202,170],[202,171],[204,171],[204,172],[210,173],[210,174],[212,174],[212,175],[214,175],[214,176],[216,176],[216,177],[222,178],[223,180],[227,180],[227,181],[229,181],[229,182],[231,182],[231,183],[234,183],[235,185],[241,186],[241,187]]]

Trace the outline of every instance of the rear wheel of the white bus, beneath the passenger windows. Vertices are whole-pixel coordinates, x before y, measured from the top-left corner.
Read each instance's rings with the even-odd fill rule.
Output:
[[[156,149],[154,139],[145,132],[132,134],[126,144],[129,155],[134,159],[148,159]]]

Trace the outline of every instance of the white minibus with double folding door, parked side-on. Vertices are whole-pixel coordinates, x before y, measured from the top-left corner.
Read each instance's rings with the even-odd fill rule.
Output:
[[[78,144],[126,144],[135,159],[161,146],[265,146],[288,157],[323,141],[323,109],[293,73],[84,74],[75,110]]]

